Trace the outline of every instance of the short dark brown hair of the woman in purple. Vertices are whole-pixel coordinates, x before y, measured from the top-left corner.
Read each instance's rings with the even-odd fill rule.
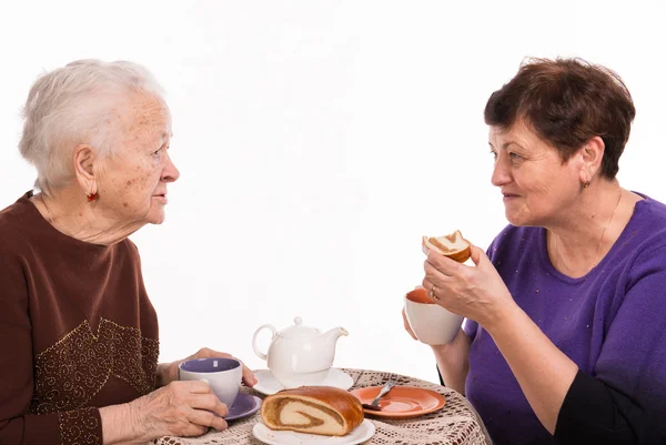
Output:
[[[629,139],[636,109],[614,71],[582,59],[528,59],[491,94],[485,122],[508,130],[523,119],[555,146],[563,162],[594,136],[604,141],[601,174],[613,179]]]

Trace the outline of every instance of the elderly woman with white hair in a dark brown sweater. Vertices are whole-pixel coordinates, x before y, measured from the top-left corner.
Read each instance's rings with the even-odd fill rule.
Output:
[[[42,75],[22,155],[39,193],[0,211],[0,443],[141,443],[222,429],[228,407],[158,364],[137,246],[164,220],[171,115],[142,67],[84,60]],[[192,357],[229,356],[203,348]],[[190,358],[190,357],[188,357]],[[243,367],[243,381],[256,380]]]

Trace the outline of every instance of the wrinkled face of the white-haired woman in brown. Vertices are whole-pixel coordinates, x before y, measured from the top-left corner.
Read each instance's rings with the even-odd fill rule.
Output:
[[[120,224],[160,224],[167,185],[180,175],[168,151],[171,114],[161,99],[150,94],[130,97],[119,112],[123,138],[100,166],[98,203]]]

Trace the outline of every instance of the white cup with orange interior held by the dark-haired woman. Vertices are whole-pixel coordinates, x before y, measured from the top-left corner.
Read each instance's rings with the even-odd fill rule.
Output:
[[[463,317],[432,302],[425,289],[405,295],[405,315],[416,337],[428,345],[451,343],[463,325]]]

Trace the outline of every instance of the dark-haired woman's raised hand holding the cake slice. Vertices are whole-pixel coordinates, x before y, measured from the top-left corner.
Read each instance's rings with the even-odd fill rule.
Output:
[[[432,296],[434,285],[438,305],[487,327],[515,302],[485,252],[472,245],[471,253],[475,267],[431,250],[423,267],[423,287]]]

